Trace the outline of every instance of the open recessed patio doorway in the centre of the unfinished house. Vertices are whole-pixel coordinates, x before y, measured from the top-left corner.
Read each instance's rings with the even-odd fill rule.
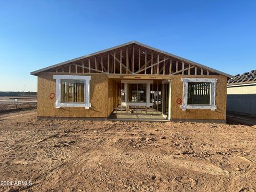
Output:
[[[118,106],[112,114],[162,116],[162,82],[115,79]]]

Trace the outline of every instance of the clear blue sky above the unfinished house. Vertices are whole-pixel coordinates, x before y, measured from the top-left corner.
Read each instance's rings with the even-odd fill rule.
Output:
[[[139,41],[235,75],[256,69],[256,1],[0,0],[0,91],[31,71]]]

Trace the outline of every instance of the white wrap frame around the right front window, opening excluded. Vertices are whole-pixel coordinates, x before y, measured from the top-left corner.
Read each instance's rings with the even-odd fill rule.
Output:
[[[186,109],[217,109],[215,106],[215,91],[216,91],[216,83],[217,78],[182,78],[181,81],[183,82],[183,99],[182,105],[180,108],[182,110]],[[188,82],[205,82],[211,83],[211,94],[210,94],[210,105],[188,105]]]

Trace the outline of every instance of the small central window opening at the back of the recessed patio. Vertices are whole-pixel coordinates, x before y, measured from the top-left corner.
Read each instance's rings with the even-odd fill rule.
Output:
[[[128,102],[146,102],[147,84],[128,84]]]

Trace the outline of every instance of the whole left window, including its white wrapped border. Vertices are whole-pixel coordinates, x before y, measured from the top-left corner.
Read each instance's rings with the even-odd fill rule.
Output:
[[[89,109],[91,76],[53,75],[56,79],[55,107],[85,107]]]

